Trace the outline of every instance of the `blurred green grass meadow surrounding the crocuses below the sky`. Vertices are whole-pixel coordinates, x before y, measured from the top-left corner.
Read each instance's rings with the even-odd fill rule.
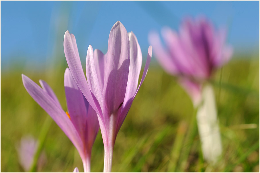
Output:
[[[46,132],[42,126],[49,115],[24,89],[21,73],[37,83],[45,80],[67,110],[65,63],[46,70],[1,71],[1,172],[23,172],[15,146],[26,134],[42,139]],[[192,127],[194,113],[188,95],[176,78],[151,64],[118,133],[112,172],[259,171],[259,60],[234,58],[216,71],[211,82],[223,144],[222,158],[216,166],[203,161],[198,130],[196,125]],[[242,125],[251,123],[257,127]],[[47,160],[36,170],[71,172],[77,166],[83,172],[77,150],[56,123],[52,121],[46,133],[42,148]],[[99,131],[92,150],[92,172],[103,172],[103,152]]]

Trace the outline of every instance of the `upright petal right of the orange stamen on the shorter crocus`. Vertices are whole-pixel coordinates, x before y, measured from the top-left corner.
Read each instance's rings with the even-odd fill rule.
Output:
[[[70,119],[81,138],[84,139],[87,123],[87,108],[84,102],[85,97],[75,82],[69,68],[66,68],[64,73],[64,88]]]

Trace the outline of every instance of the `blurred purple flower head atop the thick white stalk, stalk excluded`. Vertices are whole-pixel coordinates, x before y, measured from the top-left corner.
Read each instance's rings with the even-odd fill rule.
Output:
[[[185,19],[179,34],[169,27],[164,27],[161,34],[166,48],[159,34],[151,32],[148,36],[156,58],[169,74],[179,76],[180,84],[197,106],[202,99],[201,81],[210,78],[213,70],[232,56],[232,48],[225,45],[226,31],[214,30],[212,23],[201,17]]]

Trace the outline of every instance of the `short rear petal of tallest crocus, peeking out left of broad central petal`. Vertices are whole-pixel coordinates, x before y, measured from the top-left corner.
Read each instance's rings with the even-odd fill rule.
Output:
[[[105,55],[98,49],[94,50],[93,56],[99,86],[103,94],[106,58]]]

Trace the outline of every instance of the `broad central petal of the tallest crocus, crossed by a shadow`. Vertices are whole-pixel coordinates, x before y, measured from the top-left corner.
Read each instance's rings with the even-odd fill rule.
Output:
[[[108,39],[103,89],[103,111],[111,115],[124,102],[130,63],[130,43],[126,28],[117,21]],[[105,116],[105,115],[104,115]]]

